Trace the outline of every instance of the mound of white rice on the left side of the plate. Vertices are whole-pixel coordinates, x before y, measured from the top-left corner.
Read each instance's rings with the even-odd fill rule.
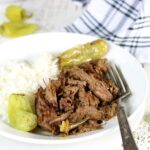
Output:
[[[8,61],[0,66],[0,116],[7,121],[8,96],[12,93],[35,93],[45,87],[49,79],[58,74],[57,59],[49,54],[38,56],[29,62]]]

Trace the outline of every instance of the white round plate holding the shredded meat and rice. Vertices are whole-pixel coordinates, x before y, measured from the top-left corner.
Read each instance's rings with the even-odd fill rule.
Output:
[[[0,64],[9,59],[29,59],[44,52],[59,53],[72,46],[92,40],[95,38],[71,33],[35,34],[18,38],[0,45]],[[131,88],[132,96],[126,100],[126,107],[130,125],[134,130],[143,116],[148,93],[145,72],[133,56],[112,43],[109,43],[109,52],[106,57],[121,67]],[[65,138],[21,132],[0,119],[0,134],[18,141],[37,144],[72,144],[74,142],[97,141],[105,146],[120,138],[116,118],[108,121],[101,130]]]

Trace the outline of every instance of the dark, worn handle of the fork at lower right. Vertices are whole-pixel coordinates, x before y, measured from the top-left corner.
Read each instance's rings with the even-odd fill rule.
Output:
[[[121,131],[124,150],[138,150],[123,106],[118,106],[117,118]]]

